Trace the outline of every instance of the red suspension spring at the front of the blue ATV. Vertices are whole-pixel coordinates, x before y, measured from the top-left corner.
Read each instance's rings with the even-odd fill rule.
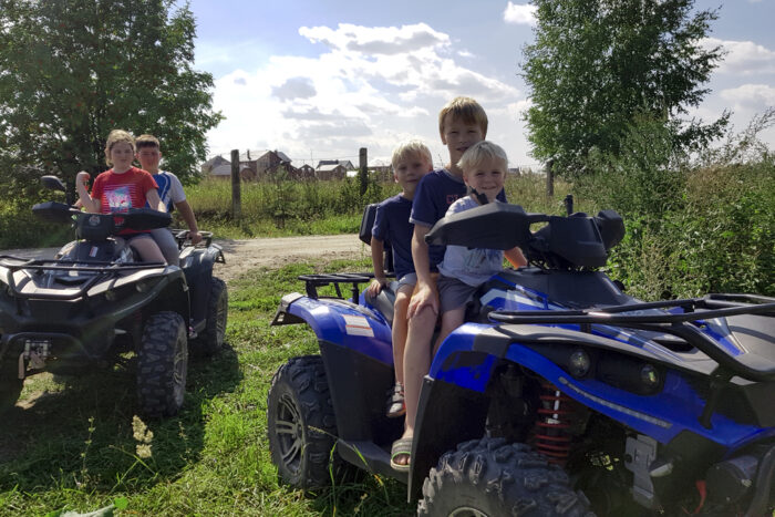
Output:
[[[574,400],[551,383],[541,384],[544,394],[534,428],[534,446],[549,463],[564,466],[570,455]]]

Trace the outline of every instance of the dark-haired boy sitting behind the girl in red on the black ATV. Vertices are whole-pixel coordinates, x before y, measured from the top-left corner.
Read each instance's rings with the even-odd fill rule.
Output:
[[[194,210],[186,200],[183,185],[173,173],[158,169],[158,163],[162,159],[158,138],[153,135],[141,135],[135,139],[135,146],[137,147],[137,161],[144,170],[153,174],[158,185],[158,196],[167,206],[167,211],[172,213],[173,207],[180,211],[180,216],[188,225],[188,238],[192,244],[196,245],[202,240],[202,235],[199,235]],[[151,235],[162,249],[167,263],[179,266],[179,249],[172,231],[168,228],[157,228],[151,230]]]

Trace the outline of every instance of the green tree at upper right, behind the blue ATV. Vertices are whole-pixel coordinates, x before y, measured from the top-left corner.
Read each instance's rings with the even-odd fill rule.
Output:
[[[616,156],[638,118],[662,121],[686,151],[721,136],[728,113],[710,124],[681,118],[709,92],[702,85],[723,56],[701,45],[716,11],[692,14],[694,0],[534,3],[536,40],[524,50],[524,73],[535,157],[569,173],[593,148]]]

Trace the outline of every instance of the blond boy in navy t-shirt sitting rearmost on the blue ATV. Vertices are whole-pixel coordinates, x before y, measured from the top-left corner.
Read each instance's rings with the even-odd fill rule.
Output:
[[[399,287],[393,304],[393,365],[395,386],[388,400],[388,416],[403,416],[404,405],[404,344],[406,343],[406,309],[414,291],[417,276],[412,262],[412,232],[414,225],[409,220],[412,199],[420,180],[433,168],[431,151],[420,141],[401,144],[393,151],[393,177],[401,185],[401,194],[390,197],[376,207],[374,227],[371,230],[371,259],[374,265],[374,280],[368,288],[376,296],[389,282],[384,271],[384,241],[393,248],[393,270]]]

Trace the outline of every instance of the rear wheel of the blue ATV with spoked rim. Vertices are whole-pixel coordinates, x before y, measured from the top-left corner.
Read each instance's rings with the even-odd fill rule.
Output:
[[[275,373],[267,420],[269,451],[280,478],[304,490],[330,485],[337,418],[319,355],[292,358]]]

